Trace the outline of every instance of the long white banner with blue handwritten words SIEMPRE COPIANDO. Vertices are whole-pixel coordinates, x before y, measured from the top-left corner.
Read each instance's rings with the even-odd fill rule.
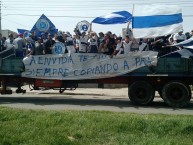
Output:
[[[22,77],[81,80],[109,78],[126,74],[143,66],[156,65],[157,52],[130,52],[110,58],[104,54],[72,53],[59,55],[31,55],[24,58]]]

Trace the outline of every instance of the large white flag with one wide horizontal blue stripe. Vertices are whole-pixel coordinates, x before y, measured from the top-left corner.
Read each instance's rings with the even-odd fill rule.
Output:
[[[182,30],[182,11],[176,5],[135,5],[132,28],[135,38],[154,38]]]

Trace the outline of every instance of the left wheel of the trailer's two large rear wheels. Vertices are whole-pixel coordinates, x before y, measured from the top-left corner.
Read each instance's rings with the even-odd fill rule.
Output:
[[[129,86],[128,95],[134,104],[148,105],[155,97],[155,90],[150,83],[137,81]]]

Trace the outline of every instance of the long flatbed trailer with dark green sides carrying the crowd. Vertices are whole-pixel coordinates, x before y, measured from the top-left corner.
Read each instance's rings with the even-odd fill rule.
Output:
[[[46,87],[74,90],[79,83],[127,84],[128,96],[131,102],[138,105],[148,105],[158,91],[160,97],[171,107],[184,107],[192,97],[193,63],[191,58],[163,57],[156,66],[144,66],[130,73],[102,79],[57,80],[25,78],[21,73],[24,69],[22,58],[10,57],[1,60],[0,81],[1,94],[11,94],[7,86],[17,86],[16,93],[25,93],[23,84],[29,84],[31,89]]]

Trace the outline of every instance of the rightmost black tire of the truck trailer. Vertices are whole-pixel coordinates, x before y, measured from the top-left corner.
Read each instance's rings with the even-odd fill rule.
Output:
[[[185,83],[172,81],[163,87],[162,97],[169,106],[181,108],[190,102],[192,93],[190,87]]]

